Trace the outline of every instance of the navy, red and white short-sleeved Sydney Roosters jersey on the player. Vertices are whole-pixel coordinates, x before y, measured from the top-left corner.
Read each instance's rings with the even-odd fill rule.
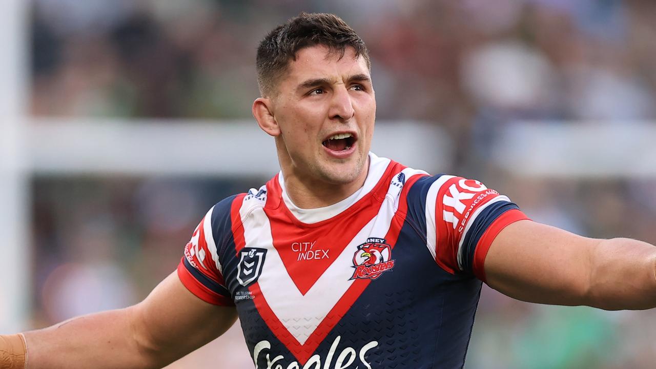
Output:
[[[483,262],[526,219],[478,181],[370,154],[355,194],[300,209],[279,173],[205,215],[183,284],[236,305],[256,368],[462,368]]]

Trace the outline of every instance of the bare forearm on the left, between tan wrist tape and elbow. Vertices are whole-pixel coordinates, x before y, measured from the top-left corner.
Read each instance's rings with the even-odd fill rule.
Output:
[[[130,307],[26,332],[27,368],[159,368],[166,358],[152,355],[136,315]]]

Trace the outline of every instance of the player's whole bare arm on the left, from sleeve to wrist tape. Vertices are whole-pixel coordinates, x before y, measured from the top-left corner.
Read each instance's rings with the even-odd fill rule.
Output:
[[[27,332],[28,369],[161,368],[235,320],[234,307],[202,301],[173,273],[137,305]]]

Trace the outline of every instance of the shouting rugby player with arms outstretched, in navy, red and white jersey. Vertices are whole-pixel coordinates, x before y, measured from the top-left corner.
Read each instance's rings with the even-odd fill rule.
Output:
[[[656,307],[653,246],[541,225],[478,181],[369,152],[369,56],[336,16],[276,28],[257,72],[253,115],[280,173],[213,206],[142,303],[2,336],[1,368],[160,368],[237,315],[257,368],[462,368],[482,282],[535,303]]]

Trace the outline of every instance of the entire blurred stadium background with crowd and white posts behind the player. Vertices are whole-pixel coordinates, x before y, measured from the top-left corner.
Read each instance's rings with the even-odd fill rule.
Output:
[[[300,11],[367,43],[377,153],[480,179],[536,221],[656,244],[653,1],[9,0],[0,333],[140,301],[210,206],[276,173],[250,113],[255,49]],[[655,362],[656,311],[484,288],[466,367]],[[253,368],[239,330],[170,368],[216,363]]]

